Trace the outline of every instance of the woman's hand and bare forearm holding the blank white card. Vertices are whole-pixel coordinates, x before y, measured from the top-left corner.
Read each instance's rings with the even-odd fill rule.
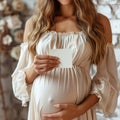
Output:
[[[49,55],[36,55],[30,68],[26,69],[26,83],[31,84],[42,73],[50,71],[59,65],[59,58]]]

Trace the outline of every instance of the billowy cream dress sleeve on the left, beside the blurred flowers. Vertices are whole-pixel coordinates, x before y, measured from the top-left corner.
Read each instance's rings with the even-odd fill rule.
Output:
[[[32,85],[27,85],[25,78],[25,70],[31,65],[32,59],[28,52],[28,44],[21,44],[21,52],[17,67],[12,74],[13,93],[16,98],[22,101],[22,106],[27,106],[30,98],[30,91]]]

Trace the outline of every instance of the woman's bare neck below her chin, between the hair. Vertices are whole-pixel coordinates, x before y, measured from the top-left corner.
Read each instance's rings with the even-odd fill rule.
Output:
[[[74,7],[70,5],[61,5],[60,6],[60,15],[63,17],[72,17],[74,15]]]

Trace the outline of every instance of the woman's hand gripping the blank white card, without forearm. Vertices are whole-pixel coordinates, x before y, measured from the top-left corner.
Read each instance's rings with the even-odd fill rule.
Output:
[[[49,55],[36,55],[33,61],[33,68],[37,74],[50,71],[59,65],[59,58]]]

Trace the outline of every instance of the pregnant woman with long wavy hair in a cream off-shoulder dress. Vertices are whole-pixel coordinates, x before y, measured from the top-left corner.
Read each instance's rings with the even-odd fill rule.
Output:
[[[109,20],[92,0],[36,3],[12,74],[15,96],[23,106],[30,101],[28,120],[96,120],[98,108],[112,114],[118,83]],[[49,55],[53,49],[71,50],[72,67],[59,67],[60,58]]]

